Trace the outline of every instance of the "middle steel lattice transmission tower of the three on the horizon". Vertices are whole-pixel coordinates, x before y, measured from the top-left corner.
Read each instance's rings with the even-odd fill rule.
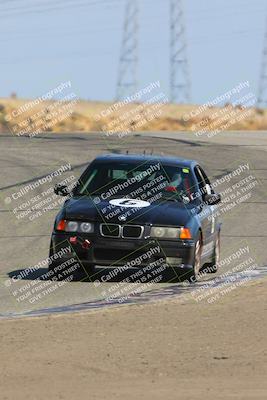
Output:
[[[170,29],[170,101],[189,103],[191,82],[182,0],[170,0]]]

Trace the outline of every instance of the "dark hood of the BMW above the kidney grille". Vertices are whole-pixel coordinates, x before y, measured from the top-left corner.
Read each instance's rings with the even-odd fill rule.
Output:
[[[93,200],[86,197],[73,197],[64,205],[65,218],[69,220],[89,220],[106,223],[134,223],[153,225],[186,225],[190,219],[189,206],[166,201],[164,203],[153,203],[148,207],[126,208],[113,206],[108,209],[109,201],[101,201],[95,204]],[[106,212],[103,210],[106,209]],[[123,210],[123,211],[120,211]],[[124,211],[125,210],[125,211]],[[126,220],[121,221],[119,217],[124,215]],[[191,214],[192,215],[192,214]]]

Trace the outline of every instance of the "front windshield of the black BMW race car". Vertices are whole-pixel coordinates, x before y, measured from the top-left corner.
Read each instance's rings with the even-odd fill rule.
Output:
[[[193,192],[188,167],[162,163],[93,163],[80,178],[74,196],[99,197],[101,200],[127,197],[140,200],[183,201]]]

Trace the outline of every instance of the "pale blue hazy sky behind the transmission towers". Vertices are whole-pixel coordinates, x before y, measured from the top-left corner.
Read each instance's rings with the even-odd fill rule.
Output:
[[[0,0],[0,97],[37,97],[71,80],[82,98],[115,96],[125,0]],[[169,95],[169,0],[139,0],[139,87]],[[257,92],[266,0],[184,0],[192,101],[249,80]]]

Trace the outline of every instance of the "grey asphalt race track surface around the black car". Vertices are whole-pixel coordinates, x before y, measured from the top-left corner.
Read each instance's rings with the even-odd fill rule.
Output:
[[[246,182],[256,182],[251,188],[248,187],[249,183],[242,184],[243,195],[247,195],[243,201],[227,200],[227,194],[224,196],[224,204],[225,206],[228,204],[228,208],[222,213],[221,257],[228,261],[231,258],[231,262],[227,261],[222,266],[216,281],[214,280],[216,276],[208,275],[202,282],[191,287],[173,282],[154,284],[138,295],[129,296],[126,304],[145,303],[168,296],[191,295],[207,281],[211,285],[219,285],[226,279],[221,274],[228,272],[229,276],[235,276],[233,271],[235,265],[240,262],[245,263],[248,259],[252,260],[253,268],[239,275],[236,282],[245,281],[247,278],[257,279],[267,272],[267,133],[265,132],[227,132],[213,138],[206,136],[197,138],[193,133],[167,132],[136,133],[126,138],[116,136],[107,138],[99,133],[44,134],[35,138],[1,134],[0,143],[2,228],[0,318],[73,312],[118,304],[117,301],[107,301],[104,295],[109,292],[114,282],[102,283],[100,287],[88,281],[65,282],[49,294],[42,292],[43,295],[36,301],[23,299],[27,288],[38,287],[40,284],[38,277],[47,271],[45,263],[37,271],[26,274],[23,279],[12,280],[12,277],[22,276],[23,271],[47,259],[53,220],[60,208],[58,203],[51,200],[51,188],[62,179],[68,178],[73,182],[99,154],[125,153],[127,150],[131,153],[153,151],[158,155],[196,159],[203,165],[212,181],[220,180],[219,192],[227,190],[228,187],[238,184],[249,176],[252,178]],[[63,165],[71,165],[71,170],[53,177],[51,182],[46,181],[26,191],[28,185],[34,185]],[[248,168],[242,167],[244,170],[239,175],[232,176],[229,182],[223,181],[225,175],[240,170],[240,166],[244,165],[248,165]],[[244,189],[245,186],[247,189]],[[32,206],[40,202],[40,199],[47,201],[45,205],[49,205],[51,209],[43,212],[41,207],[38,209],[39,213],[37,210],[34,211]],[[30,204],[30,212],[22,217],[19,208],[24,207],[28,210],[27,204]],[[247,252],[237,257],[238,251],[245,248]],[[51,285],[51,282],[48,285]],[[123,287],[124,284],[120,285]]]

